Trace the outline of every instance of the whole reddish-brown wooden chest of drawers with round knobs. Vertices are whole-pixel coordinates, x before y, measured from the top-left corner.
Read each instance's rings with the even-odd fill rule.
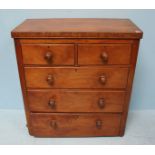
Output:
[[[29,19],[12,31],[29,133],[122,136],[142,31],[127,19]]]

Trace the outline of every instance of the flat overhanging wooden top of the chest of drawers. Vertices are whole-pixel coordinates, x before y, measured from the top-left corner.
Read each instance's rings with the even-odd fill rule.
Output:
[[[27,19],[12,31],[13,38],[140,39],[143,32],[129,19]]]

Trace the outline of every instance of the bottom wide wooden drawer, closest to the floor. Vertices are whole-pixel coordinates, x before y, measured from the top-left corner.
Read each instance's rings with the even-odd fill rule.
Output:
[[[30,133],[35,136],[116,136],[120,114],[31,113]]]

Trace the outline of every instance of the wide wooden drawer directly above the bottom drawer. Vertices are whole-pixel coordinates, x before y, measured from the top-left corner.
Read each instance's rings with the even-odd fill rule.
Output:
[[[124,91],[102,90],[29,90],[33,112],[122,112]]]

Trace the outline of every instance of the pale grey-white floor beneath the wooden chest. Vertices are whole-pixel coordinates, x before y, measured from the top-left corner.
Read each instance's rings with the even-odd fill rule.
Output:
[[[129,112],[124,137],[35,138],[25,124],[23,110],[0,110],[0,144],[155,144],[155,110]]]

